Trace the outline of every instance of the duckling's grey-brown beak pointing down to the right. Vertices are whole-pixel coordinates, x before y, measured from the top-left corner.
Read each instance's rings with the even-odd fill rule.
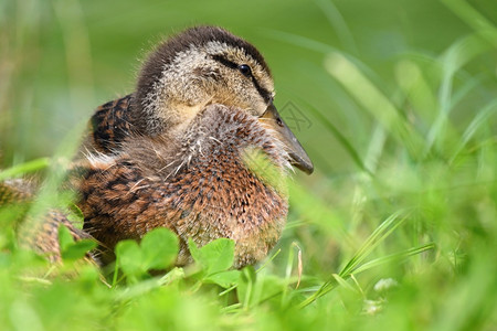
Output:
[[[297,167],[307,174],[313,173],[313,161],[310,161],[300,142],[298,142],[292,130],[283,121],[273,103],[267,106],[266,111],[260,117],[260,120],[277,132],[278,139],[288,149],[292,166]]]

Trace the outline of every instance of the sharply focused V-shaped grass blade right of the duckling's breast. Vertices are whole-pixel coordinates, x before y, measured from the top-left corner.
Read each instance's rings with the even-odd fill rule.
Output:
[[[338,276],[341,279],[348,279],[351,275],[362,273],[372,267],[391,263],[392,260],[401,260],[409,256],[433,249],[433,244],[426,244],[423,246],[406,249],[404,252],[395,253],[393,255],[380,257],[361,265],[361,263],[372,253],[372,250],[380,243],[382,243],[396,227],[399,227],[399,225],[401,225],[408,216],[409,214],[406,214],[405,211],[399,211],[388,217],[383,223],[381,223],[380,226],[378,226],[374,232],[366,239],[364,244],[359,248],[356,255],[349,260],[349,263],[343,267]],[[318,298],[331,291],[337,287],[337,285],[339,285],[339,282],[337,281],[337,277],[332,276],[315,293],[300,302],[300,305],[298,305],[298,308],[304,308],[310,305]]]

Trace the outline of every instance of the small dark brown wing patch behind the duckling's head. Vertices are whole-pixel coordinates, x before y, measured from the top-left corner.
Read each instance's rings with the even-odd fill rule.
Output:
[[[110,154],[119,149],[120,142],[134,131],[130,121],[134,95],[99,106],[89,119],[87,137],[83,142],[83,151],[98,151]]]

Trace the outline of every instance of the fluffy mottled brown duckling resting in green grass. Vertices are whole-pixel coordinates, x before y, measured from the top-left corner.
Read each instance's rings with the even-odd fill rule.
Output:
[[[313,169],[273,98],[262,55],[225,30],[193,28],[160,44],[137,90],[92,118],[77,186],[84,229],[112,248],[168,227],[179,265],[190,260],[188,238],[234,239],[235,267],[264,258],[285,224],[286,170]],[[251,168],[254,151],[272,174]]]

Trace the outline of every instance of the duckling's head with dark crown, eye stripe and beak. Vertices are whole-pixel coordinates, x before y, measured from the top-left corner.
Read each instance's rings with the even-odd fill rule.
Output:
[[[236,107],[261,118],[288,147],[292,163],[313,163],[273,105],[271,71],[248,42],[216,26],[186,30],[161,43],[145,62],[136,89],[138,130],[181,132],[208,105]]]

